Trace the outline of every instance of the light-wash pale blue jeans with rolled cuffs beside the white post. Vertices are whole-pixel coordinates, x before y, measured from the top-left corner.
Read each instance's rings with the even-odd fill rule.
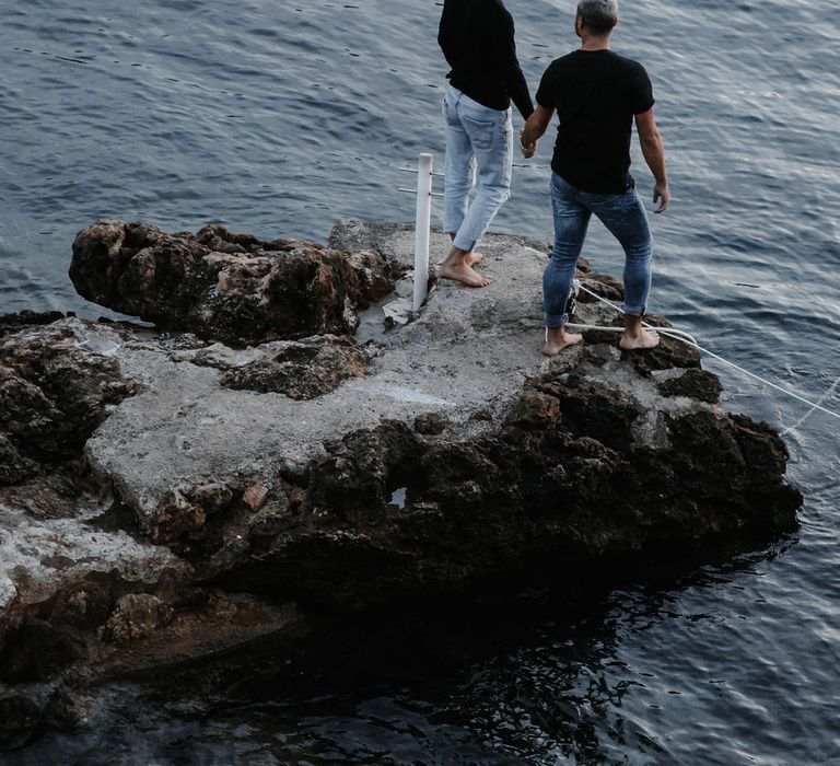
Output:
[[[455,234],[455,247],[470,253],[511,196],[511,109],[500,112],[482,106],[447,85],[443,118],[446,123],[443,230]],[[478,170],[478,189],[472,202],[467,205],[474,169]]]

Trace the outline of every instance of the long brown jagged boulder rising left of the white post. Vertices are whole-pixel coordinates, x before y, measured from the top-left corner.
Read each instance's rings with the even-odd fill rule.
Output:
[[[219,225],[165,234],[101,221],[73,242],[70,278],[83,298],[162,328],[231,344],[355,328],[355,310],[393,287],[374,251],[262,242]]]

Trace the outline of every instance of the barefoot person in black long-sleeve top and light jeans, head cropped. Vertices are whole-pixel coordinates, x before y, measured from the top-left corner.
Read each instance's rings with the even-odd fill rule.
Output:
[[[527,119],[534,112],[516,59],[513,18],[502,0],[445,0],[438,33],[452,71],[443,100],[446,123],[444,230],[453,247],[438,275],[469,287],[492,278],[472,267],[476,245],[510,196],[513,159],[511,101]],[[472,169],[478,189],[472,188]]]

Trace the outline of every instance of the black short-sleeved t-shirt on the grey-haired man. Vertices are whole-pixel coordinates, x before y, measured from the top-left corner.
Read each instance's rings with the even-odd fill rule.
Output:
[[[633,115],[654,103],[641,63],[611,50],[575,50],[549,65],[537,103],[560,118],[555,173],[584,192],[627,190]]]

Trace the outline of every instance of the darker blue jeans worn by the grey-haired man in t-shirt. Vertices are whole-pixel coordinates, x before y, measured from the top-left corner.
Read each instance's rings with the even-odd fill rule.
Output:
[[[648,213],[634,188],[623,194],[595,194],[575,188],[551,174],[555,246],[542,272],[542,311],[546,327],[562,327],[574,268],[586,229],[595,213],[625,249],[625,313],[642,316],[651,289],[653,239]]]

